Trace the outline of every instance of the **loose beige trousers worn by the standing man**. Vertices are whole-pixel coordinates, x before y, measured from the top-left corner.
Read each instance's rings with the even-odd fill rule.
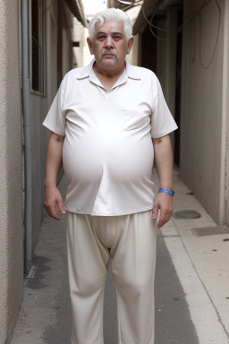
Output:
[[[119,344],[154,343],[157,221],[151,211],[124,216],[67,212],[71,344],[103,344],[107,265],[112,272]]]

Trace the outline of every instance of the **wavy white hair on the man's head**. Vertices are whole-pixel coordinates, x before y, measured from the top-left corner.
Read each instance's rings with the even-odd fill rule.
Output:
[[[105,11],[98,12],[89,22],[89,39],[92,41],[95,36],[95,27],[104,22],[121,21],[123,22],[123,31],[127,40],[132,37],[132,26],[129,15],[118,8],[109,8]]]

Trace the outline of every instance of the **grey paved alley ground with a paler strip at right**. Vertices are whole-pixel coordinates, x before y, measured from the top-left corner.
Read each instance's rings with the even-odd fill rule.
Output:
[[[60,189],[64,193],[63,178]],[[228,228],[218,228],[174,174],[173,218],[157,235],[156,344],[227,344],[229,331]],[[157,190],[157,186],[156,186]],[[207,228],[207,229],[206,229]],[[115,300],[109,271],[105,342],[116,343]],[[45,218],[11,344],[70,344],[64,216]]]

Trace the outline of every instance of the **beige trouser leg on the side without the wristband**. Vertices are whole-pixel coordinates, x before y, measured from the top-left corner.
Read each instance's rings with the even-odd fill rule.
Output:
[[[68,211],[66,219],[71,344],[102,344],[103,303],[109,252],[98,242],[98,236],[87,215]]]

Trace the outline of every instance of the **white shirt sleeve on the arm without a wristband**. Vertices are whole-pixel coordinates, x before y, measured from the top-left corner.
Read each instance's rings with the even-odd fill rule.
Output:
[[[58,135],[65,135],[65,115],[63,111],[64,107],[64,83],[65,80],[61,83],[59,90],[55,95],[55,99],[47,113],[47,116],[43,122],[49,130]]]

